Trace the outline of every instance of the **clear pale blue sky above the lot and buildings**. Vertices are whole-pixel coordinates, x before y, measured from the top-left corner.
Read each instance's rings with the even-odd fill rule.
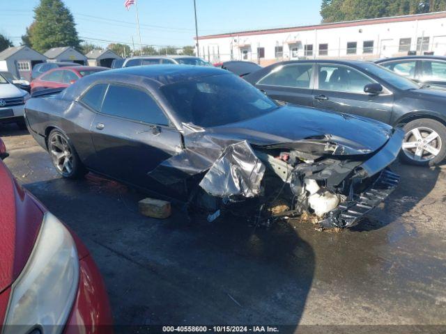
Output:
[[[106,47],[111,42],[139,43],[135,6],[124,0],[63,0],[79,37]],[[321,22],[321,0],[196,0],[199,35],[302,26]],[[39,0],[1,1],[0,33],[20,45],[33,22]],[[193,0],[137,0],[143,45],[194,45]],[[138,47],[138,46],[137,46]]]

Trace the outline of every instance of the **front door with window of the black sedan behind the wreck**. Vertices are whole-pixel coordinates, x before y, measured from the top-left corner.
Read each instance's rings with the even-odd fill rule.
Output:
[[[376,81],[346,65],[318,63],[313,105],[342,113],[374,118],[389,123],[393,95],[383,88],[378,95],[364,93],[364,86]]]

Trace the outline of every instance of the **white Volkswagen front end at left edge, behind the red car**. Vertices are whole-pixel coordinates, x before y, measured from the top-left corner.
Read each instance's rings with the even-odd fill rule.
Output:
[[[29,97],[28,92],[17,88],[0,74],[0,122],[15,122],[20,128],[26,129],[23,113]]]

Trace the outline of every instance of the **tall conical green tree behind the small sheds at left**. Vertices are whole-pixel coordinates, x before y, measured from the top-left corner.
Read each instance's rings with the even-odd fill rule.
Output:
[[[40,0],[39,6],[34,8],[31,26],[32,29],[27,31],[29,42],[39,52],[52,47],[79,49],[81,40],[77,35],[75,19],[61,0]]]

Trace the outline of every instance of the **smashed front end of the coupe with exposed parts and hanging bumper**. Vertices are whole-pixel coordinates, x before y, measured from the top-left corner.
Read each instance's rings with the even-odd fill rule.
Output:
[[[268,175],[275,174],[284,185],[277,193],[270,193],[270,218],[298,216],[307,212],[317,217],[325,228],[346,228],[357,224],[360,218],[374,209],[392,193],[399,183],[399,176],[388,167],[401,149],[403,131],[395,129],[382,148],[371,154],[326,154],[298,150],[299,144],[286,150],[286,145],[276,148],[256,148],[256,155],[266,165],[263,186],[268,189]],[[302,147],[309,147],[305,141]],[[315,141],[311,141],[314,145]],[[341,145],[325,143],[323,150],[339,152]],[[345,152],[342,151],[342,152]],[[367,157],[364,161],[364,157]],[[276,187],[277,188],[277,187]],[[269,198],[270,198],[269,197]],[[281,209],[275,209],[281,198]],[[288,200],[289,208],[283,205]],[[268,207],[268,204],[267,204]]]

